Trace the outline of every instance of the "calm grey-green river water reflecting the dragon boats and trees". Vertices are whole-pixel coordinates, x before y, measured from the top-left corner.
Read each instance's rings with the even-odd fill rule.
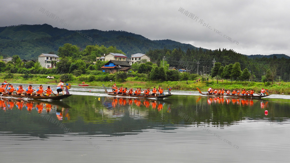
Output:
[[[290,96],[171,93],[72,86],[61,101],[1,98],[0,162],[289,162]]]

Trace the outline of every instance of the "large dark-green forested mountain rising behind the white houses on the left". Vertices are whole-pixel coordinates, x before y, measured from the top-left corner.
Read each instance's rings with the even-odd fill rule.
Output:
[[[86,37],[85,37],[86,36]],[[181,48],[195,49],[190,44],[172,40],[150,40],[139,34],[126,31],[101,31],[96,29],[72,31],[54,28],[48,24],[16,25],[0,27],[0,55],[19,55],[21,59],[37,60],[41,53],[54,52],[64,43],[71,43],[84,49],[87,45],[115,46],[128,57],[148,50]],[[203,49],[206,50],[206,49]]]

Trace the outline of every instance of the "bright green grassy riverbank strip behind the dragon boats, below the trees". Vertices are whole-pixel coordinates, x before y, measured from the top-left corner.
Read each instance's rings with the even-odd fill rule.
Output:
[[[23,84],[57,84],[59,82],[60,75],[54,75],[55,79],[48,79],[46,78],[47,75],[37,75],[33,78],[24,79],[21,77],[23,74],[13,74],[13,78],[6,79],[9,83],[23,83]],[[0,74],[0,80],[4,81],[5,74]],[[55,80],[57,80],[57,83],[55,83]],[[148,81],[132,81],[133,78],[127,78],[125,82],[103,82],[103,81],[93,81],[93,82],[86,82],[86,84],[89,84],[90,86],[99,86],[101,87],[102,84],[104,84],[107,88],[111,87],[114,83],[117,83],[117,86],[123,86],[128,88],[137,88],[140,87],[142,89],[144,88],[153,88],[158,87],[159,85],[162,88],[167,88],[168,86],[171,86],[173,90],[192,90],[197,91],[196,87],[198,87],[201,91],[207,91],[209,87],[212,87],[213,89],[230,89],[231,91],[233,89],[253,89],[255,92],[260,92],[262,87],[264,89],[268,89],[270,94],[290,94],[290,83],[289,82],[276,82],[273,85],[270,83],[258,83],[258,82],[221,82],[216,83],[216,80],[209,80],[207,81],[199,81],[195,82],[192,80],[186,81],[168,81],[168,82],[148,82]],[[71,85],[78,85],[78,83],[81,83],[81,81],[67,81],[67,83],[70,83]]]

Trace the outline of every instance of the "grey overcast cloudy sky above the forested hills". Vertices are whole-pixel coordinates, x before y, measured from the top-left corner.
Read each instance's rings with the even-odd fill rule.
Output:
[[[2,0],[0,26],[123,30],[211,50],[290,56],[289,6],[290,1],[262,0]]]

